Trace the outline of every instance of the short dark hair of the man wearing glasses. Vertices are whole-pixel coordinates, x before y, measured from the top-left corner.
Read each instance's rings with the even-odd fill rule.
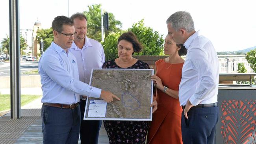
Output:
[[[61,15],[54,18],[54,20],[52,21],[52,30],[61,32],[63,31],[63,25],[74,26],[74,23],[71,21],[70,18]]]

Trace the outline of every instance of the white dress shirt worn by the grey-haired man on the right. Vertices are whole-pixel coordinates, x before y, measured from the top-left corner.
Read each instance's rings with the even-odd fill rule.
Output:
[[[179,86],[180,105],[217,102],[219,66],[217,53],[209,39],[199,31],[184,43],[187,56]]]

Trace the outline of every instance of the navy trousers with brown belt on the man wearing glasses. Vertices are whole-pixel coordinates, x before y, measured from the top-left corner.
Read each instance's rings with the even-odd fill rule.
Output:
[[[80,131],[80,106],[61,109],[43,105],[41,109],[43,144],[77,144]]]

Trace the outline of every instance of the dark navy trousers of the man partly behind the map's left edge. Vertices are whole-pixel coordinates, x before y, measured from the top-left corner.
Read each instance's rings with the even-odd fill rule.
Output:
[[[81,100],[81,127],[80,140],[81,144],[98,144],[98,136],[101,127],[101,120],[83,120],[86,100]]]

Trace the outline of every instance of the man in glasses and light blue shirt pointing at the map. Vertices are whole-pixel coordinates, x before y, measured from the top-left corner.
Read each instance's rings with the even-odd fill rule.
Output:
[[[80,95],[106,102],[119,98],[79,81],[77,60],[68,51],[76,33],[70,18],[54,18],[52,29],[54,42],[41,57],[38,68],[43,90],[43,143],[74,144],[78,143],[80,129]]]

